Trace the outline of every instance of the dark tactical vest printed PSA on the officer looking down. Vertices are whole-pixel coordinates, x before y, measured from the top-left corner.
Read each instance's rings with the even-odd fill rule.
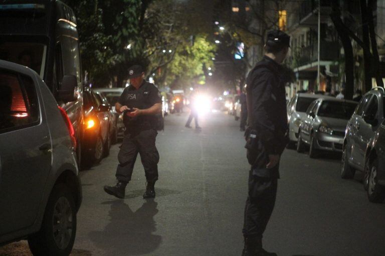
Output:
[[[126,98],[124,100],[124,104],[129,108],[139,108],[146,109],[153,105],[150,102],[149,94],[150,94],[150,86],[153,86],[151,83],[144,81],[144,83],[138,89],[132,89],[133,86],[129,85],[126,94]],[[127,130],[133,129],[150,129],[154,128],[154,123],[156,118],[154,115],[139,115],[135,117],[130,117],[128,115],[123,116],[123,123],[126,126]]]

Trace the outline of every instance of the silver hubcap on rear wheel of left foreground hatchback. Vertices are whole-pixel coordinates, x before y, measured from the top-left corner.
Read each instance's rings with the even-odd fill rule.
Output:
[[[60,249],[65,249],[68,246],[72,232],[72,208],[68,199],[62,196],[56,201],[53,215],[54,239]]]

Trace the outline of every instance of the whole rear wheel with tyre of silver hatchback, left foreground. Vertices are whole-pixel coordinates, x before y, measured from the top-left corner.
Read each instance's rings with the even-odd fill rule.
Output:
[[[41,229],[28,237],[28,244],[35,256],[68,256],[75,235],[74,196],[65,184],[57,184],[48,199]]]

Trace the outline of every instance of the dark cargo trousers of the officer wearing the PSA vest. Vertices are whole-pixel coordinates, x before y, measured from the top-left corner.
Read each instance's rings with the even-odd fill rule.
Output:
[[[135,135],[128,132],[124,134],[118,153],[119,164],[116,168],[116,178],[119,181],[128,182],[131,180],[138,153],[144,167],[146,180],[151,182],[158,179],[159,153],[155,146],[156,135],[155,129],[142,130]]]

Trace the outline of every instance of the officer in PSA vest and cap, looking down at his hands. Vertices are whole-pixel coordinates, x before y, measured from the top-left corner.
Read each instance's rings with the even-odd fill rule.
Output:
[[[104,191],[124,198],[125,187],[131,180],[132,170],[138,153],[142,160],[147,185],[143,198],[155,197],[155,181],[158,179],[159,153],[155,146],[157,131],[156,114],[161,112],[162,100],[154,84],[144,80],[140,65],[129,68],[131,84],[126,87],[115,104],[117,112],[123,112],[126,127],[118,153],[115,186],[104,186]]]

